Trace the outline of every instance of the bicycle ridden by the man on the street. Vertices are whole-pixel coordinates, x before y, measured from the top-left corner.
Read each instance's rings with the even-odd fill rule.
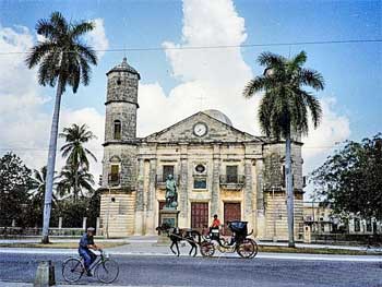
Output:
[[[102,283],[114,283],[119,275],[119,265],[108,254],[99,250],[99,255],[91,265],[97,279]],[[75,283],[86,273],[83,258],[69,258],[62,264],[62,277],[69,283]]]

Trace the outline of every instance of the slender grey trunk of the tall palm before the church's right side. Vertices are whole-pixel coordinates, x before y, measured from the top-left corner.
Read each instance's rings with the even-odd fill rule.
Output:
[[[295,247],[294,231],[294,187],[291,177],[291,143],[290,134],[285,141],[285,182],[287,189],[287,215],[288,215],[288,246]]]

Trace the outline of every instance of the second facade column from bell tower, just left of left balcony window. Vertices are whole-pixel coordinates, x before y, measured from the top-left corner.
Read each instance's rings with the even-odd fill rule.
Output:
[[[155,235],[155,179],[156,179],[156,158],[150,159],[147,211],[146,211],[146,234]]]

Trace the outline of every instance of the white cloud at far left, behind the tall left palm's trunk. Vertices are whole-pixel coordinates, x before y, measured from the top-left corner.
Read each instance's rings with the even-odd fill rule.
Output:
[[[0,25],[2,52],[28,50],[33,44],[34,36],[26,27]],[[0,57],[0,155],[12,151],[29,168],[40,168],[47,163],[51,124],[51,113],[44,110],[44,105],[51,98],[43,95],[43,89],[36,80],[36,70],[28,70],[24,59],[24,53]],[[53,89],[51,91],[53,93]],[[60,130],[73,122],[86,122],[98,137],[88,145],[99,159],[98,164],[93,164],[91,170],[97,177],[100,174],[100,142],[104,139],[103,116],[92,108],[62,109]],[[58,154],[56,169],[58,170],[62,165],[63,160]]]

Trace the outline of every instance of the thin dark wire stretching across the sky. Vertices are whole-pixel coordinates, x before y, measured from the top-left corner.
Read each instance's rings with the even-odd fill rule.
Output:
[[[365,44],[365,43],[382,43],[382,39],[314,40],[314,41],[264,43],[264,44],[216,45],[216,46],[141,47],[141,48],[96,49],[95,51],[127,52],[127,51],[162,51],[162,50],[207,50],[207,49],[300,46],[300,45]],[[68,52],[71,52],[71,51],[68,51]],[[0,52],[0,55],[20,55],[20,53],[28,53],[28,51]]]

